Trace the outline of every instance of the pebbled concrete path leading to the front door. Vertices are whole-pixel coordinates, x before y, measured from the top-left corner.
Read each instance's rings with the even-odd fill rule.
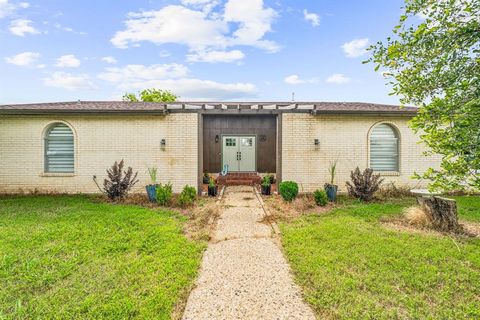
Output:
[[[315,319],[252,187],[228,187],[183,319]]]

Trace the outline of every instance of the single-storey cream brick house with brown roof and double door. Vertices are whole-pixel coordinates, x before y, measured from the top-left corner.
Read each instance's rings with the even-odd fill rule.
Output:
[[[425,157],[407,122],[416,108],[370,103],[65,102],[0,106],[0,192],[98,192],[105,170],[124,159],[156,166],[178,192],[204,172],[275,173],[312,191],[329,179],[345,191],[350,171],[371,167],[397,184],[439,163]]]

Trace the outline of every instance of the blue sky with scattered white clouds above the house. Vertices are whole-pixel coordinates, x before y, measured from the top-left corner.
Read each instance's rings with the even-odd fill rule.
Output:
[[[398,103],[362,64],[402,0],[0,0],[0,104],[116,100]]]

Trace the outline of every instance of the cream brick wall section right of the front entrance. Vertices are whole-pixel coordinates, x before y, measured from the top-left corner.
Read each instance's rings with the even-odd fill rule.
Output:
[[[282,179],[299,183],[300,190],[313,191],[329,181],[328,166],[338,159],[336,183],[342,192],[350,180],[350,171],[357,166],[368,167],[368,135],[379,122],[393,124],[400,134],[400,172],[384,173],[386,182],[411,187],[425,186],[425,181],[413,180],[439,163],[439,157],[422,155],[424,146],[408,128],[408,118],[381,116],[340,116],[284,113],[282,115]],[[320,139],[320,147],[314,139]]]

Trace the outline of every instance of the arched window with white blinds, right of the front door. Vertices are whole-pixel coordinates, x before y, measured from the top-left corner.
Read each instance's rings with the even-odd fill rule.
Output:
[[[399,171],[398,134],[389,124],[378,124],[370,133],[370,168],[374,171]]]

